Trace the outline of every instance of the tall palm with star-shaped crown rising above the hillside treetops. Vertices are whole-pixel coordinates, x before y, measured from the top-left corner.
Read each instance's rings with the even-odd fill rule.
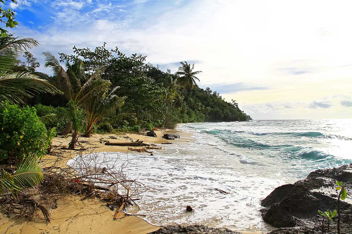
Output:
[[[189,87],[191,90],[193,87],[196,85],[196,80],[199,81],[199,79],[195,76],[199,73],[202,73],[201,71],[193,72],[194,69],[194,63],[191,66],[191,64],[188,64],[186,61],[180,62],[181,66],[178,67],[178,72],[175,74],[178,75],[178,83],[183,86],[183,88]]]

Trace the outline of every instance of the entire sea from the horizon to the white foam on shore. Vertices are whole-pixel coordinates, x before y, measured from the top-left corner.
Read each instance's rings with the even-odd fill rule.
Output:
[[[205,224],[268,231],[260,200],[276,187],[320,168],[352,163],[352,120],[257,120],[187,123],[189,142],[163,145],[154,156],[102,154],[131,163],[128,176],[147,192],[128,212],[157,225]],[[74,166],[77,159],[70,160]],[[219,193],[215,188],[229,192]],[[186,212],[186,205],[194,212]]]

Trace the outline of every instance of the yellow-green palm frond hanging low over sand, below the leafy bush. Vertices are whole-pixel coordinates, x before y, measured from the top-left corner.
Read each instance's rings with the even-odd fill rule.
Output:
[[[38,156],[28,154],[18,163],[15,173],[12,175],[4,169],[0,174],[0,192],[6,190],[13,196],[22,189],[32,188],[43,180],[42,168],[39,167]]]

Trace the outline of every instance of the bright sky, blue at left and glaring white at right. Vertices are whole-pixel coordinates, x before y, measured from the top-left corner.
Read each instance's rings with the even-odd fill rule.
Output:
[[[107,43],[177,71],[195,63],[201,88],[253,119],[352,118],[351,1],[17,0],[19,26],[41,46],[73,53]],[[39,71],[50,73],[41,66]]]

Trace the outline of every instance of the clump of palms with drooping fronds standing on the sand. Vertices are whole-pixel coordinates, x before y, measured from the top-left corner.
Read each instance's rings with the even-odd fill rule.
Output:
[[[78,60],[73,65],[67,62],[65,69],[52,53],[44,52],[43,55],[46,61],[45,67],[50,67],[54,73],[54,85],[64,93],[69,101],[68,107],[73,122],[69,148],[73,149],[78,140],[78,132],[84,130],[84,123],[87,124],[85,135],[90,136],[94,130],[92,130],[93,125],[102,119],[103,115],[107,113],[106,111],[111,111],[114,107],[115,109],[118,108],[121,100],[118,101],[117,96],[107,95],[111,82],[100,77],[106,66],[98,68],[92,75],[88,76],[84,72],[82,60]],[[84,82],[83,85],[82,82]],[[111,99],[105,99],[108,96]],[[95,104],[95,102],[97,103]],[[86,118],[84,118],[82,108],[85,108]]]

